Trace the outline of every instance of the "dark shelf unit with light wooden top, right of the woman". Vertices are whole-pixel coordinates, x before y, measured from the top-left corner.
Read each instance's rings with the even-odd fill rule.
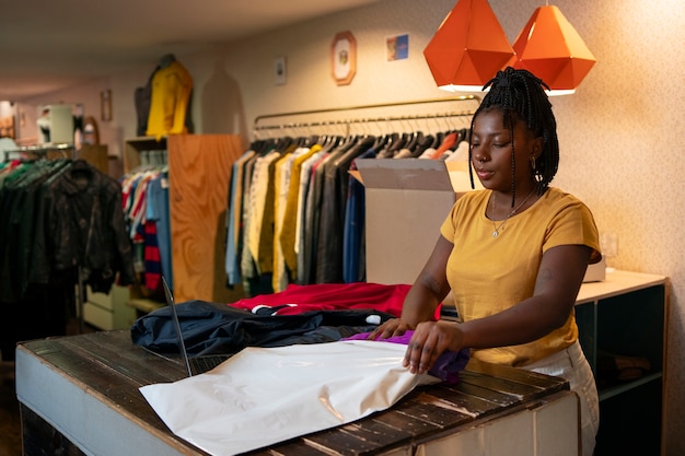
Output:
[[[667,279],[639,272],[607,271],[580,289],[579,340],[600,395],[595,456],[661,453],[666,301]],[[651,369],[632,381],[608,381],[599,369],[602,353],[646,359]]]

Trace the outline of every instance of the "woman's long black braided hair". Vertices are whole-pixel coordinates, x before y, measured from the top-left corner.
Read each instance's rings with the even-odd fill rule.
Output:
[[[543,138],[543,153],[535,159],[533,173],[537,183],[537,195],[542,195],[549,186],[549,183],[557,174],[559,166],[559,140],[557,139],[557,121],[552,112],[552,104],[545,93],[549,90],[541,79],[536,78],[527,70],[514,70],[511,67],[498,71],[497,75],[488,81],[483,90],[490,89],[483,98],[480,106],[476,109],[471,120],[471,135],[468,148],[468,161],[472,161],[472,143],[474,122],[481,112],[497,108],[502,110],[504,128],[511,130],[518,120],[523,120],[525,127],[537,137]],[[473,169],[469,166],[469,177],[472,188],[474,185]],[[511,206],[515,198],[515,160],[514,144],[511,142]]]

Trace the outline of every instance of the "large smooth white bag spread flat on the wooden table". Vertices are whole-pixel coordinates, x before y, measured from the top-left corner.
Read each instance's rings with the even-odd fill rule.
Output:
[[[384,410],[418,385],[406,346],[368,340],[247,348],[214,370],[140,391],[179,437],[235,455]]]

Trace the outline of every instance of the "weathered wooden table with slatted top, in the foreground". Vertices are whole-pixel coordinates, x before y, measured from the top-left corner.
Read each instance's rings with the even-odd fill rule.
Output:
[[[184,376],[181,364],[132,344],[128,330],[22,343],[24,455],[204,455],[138,389]],[[457,385],[419,387],[388,410],[252,454],[428,456],[449,446],[469,456],[577,455],[578,397],[568,388],[562,378],[472,361]]]

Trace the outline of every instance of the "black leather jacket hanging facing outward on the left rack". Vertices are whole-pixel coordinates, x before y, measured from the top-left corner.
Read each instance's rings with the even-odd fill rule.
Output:
[[[94,292],[135,283],[132,246],[127,235],[120,185],[83,160],[46,188],[42,225],[36,227],[32,281],[79,269]]]

